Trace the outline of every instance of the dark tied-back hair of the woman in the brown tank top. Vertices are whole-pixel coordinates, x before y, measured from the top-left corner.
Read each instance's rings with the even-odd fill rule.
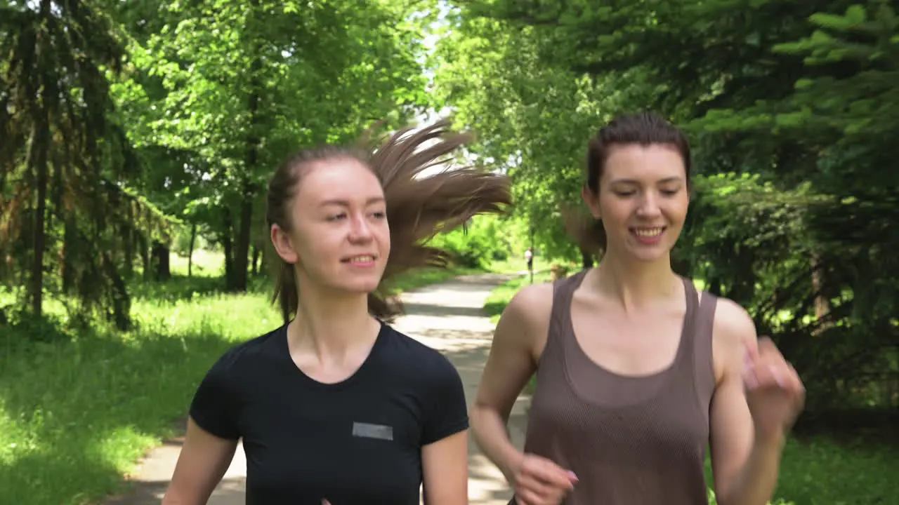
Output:
[[[661,115],[652,111],[623,114],[611,120],[600,129],[587,145],[586,181],[587,190],[594,195],[600,192],[600,180],[613,146],[638,144],[650,146],[663,144],[673,146],[681,154],[690,188],[690,142],[681,129],[672,125]],[[592,216],[567,208],[564,211],[565,228],[573,235],[578,245],[587,253],[603,253],[606,248],[606,230],[602,221]]]

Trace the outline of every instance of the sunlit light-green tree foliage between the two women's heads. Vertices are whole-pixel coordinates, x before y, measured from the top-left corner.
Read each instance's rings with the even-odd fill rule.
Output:
[[[547,66],[553,40],[528,28],[460,16],[434,55],[435,93],[480,139],[473,148],[514,182],[514,216],[533,227],[548,256],[577,257],[560,211],[577,206],[587,140],[628,98],[616,82]]]

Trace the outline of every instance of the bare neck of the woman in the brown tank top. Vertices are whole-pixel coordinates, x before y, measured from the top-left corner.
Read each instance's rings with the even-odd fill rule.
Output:
[[[596,270],[592,287],[617,301],[628,313],[677,295],[679,282],[668,254],[658,261],[647,262],[610,251],[603,255]]]

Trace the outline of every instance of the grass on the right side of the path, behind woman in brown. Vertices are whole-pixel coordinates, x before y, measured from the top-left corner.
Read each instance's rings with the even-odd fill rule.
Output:
[[[534,282],[549,279],[548,273]],[[512,297],[530,282],[512,279],[495,288],[485,302],[485,312],[499,319]],[[533,379],[528,388],[533,391]],[[801,419],[800,419],[801,422]],[[848,427],[847,427],[848,428]],[[780,469],[775,505],[886,505],[899,503],[899,444],[884,434],[881,439],[846,437],[841,442],[828,435],[793,437],[788,441]],[[708,483],[712,483],[707,458]],[[710,492],[711,496],[711,492]],[[711,503],[714,505],[714,498]]]

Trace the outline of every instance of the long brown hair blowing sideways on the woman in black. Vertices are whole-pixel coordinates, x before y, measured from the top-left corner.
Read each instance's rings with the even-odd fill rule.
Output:
[[[268,188],[266,220],[290,229],[290,207],[296,196],[302,169],[316,161],[348,157],[366,164],[381,182],[390,225],[390,256],[378,288],[369,294],[369,313],[391,321],[402,314],[397,297],[390,294],[390,280],[421,267],[447,268],[449,253],[427,242],[448,232],[476,214],[502,213],[512,205],[508,177],[475,167],[453,167],[421,176],[448,160],[471,137],[449,130],[449,121],[413,131],[404,128],[378,142],[364,136],[358,146],[318,146],[300,151],[281,164]],[[276,256],[277,257],[277,256]],[[277,258],[278,273],[273,301],[279,302],[284,322],[294,315],[299,290],[293,265]]]

